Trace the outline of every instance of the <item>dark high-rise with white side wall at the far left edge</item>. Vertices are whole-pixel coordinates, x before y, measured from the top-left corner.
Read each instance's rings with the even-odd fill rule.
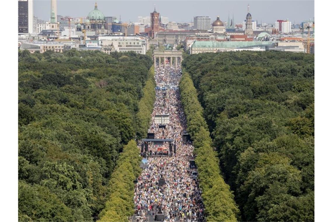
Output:
[[[18,32],[33,33],[34,9],[32,0],[18,1]]]

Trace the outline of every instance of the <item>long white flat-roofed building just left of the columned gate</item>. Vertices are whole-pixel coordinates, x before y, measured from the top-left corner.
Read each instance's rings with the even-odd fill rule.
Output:
[[[99,36],[98,40],[102,46],[102,52],[130,52],[146,54],[147,39],[142,36]]]

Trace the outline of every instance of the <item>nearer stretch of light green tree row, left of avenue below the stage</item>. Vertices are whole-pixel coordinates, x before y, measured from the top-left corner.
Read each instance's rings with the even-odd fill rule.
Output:
[[[134,215],[134,181],[141,173],[140,149],[131,140],[124,146],[109,182],[108,201],[99,215],[100,221],[128,221]]]

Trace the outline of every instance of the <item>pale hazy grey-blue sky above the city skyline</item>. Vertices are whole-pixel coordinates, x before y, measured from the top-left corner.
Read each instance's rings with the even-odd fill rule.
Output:
[[[122,21],[137,22],[138,16],[150,16],[156,11],[169,18],[169,21],[189,22],[193,16],[209,16],[214,21],[216,16],[227,21],[228,12],[230,19],[234,13],[236,23],[245,19],[247,4],[250,4],[250,13],[253,20],[258,23],[273,23],[277,19],[289,19],[292,23],[311,20],[314,17],[314,1],[285,1],[285,0],[258,0],[258,1],[203,1],[203,0],[154,0],[154,1],[113,1],[98,0],[98,9],[105,16],[115,16]],[[72,17],[86,17],[94,9],[95,0],[58,0],[58,15]],[[50,20],[51,0],[34,0],[34,15],[46,21]]]

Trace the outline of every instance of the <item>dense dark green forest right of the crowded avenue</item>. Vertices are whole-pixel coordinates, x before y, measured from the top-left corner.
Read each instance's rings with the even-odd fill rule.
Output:
[[[182,65],[241,220],[314,221],[314,56],[203,53]]]

